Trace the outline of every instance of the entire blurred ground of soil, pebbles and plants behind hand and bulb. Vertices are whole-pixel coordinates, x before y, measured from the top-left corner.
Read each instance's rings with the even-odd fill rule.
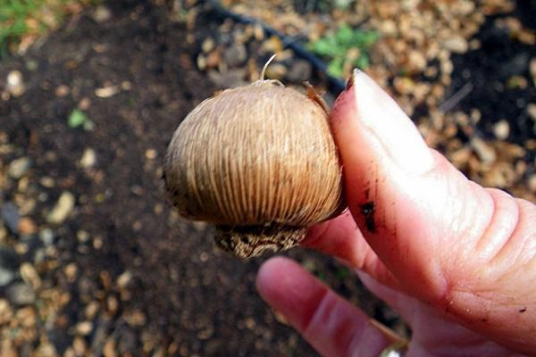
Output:
[[[173,130],[266,75],[358,66],[432,147],[536,202],[534,0],[0,0],[0,355],[314,356],[163,193]],[[398,333],[345,267],[285,253]]]

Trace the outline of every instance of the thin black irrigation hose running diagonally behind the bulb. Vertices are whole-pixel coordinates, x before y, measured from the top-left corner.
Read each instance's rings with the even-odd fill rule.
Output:
[[[304,46],[301,46],[295,39],[281,34],[281,32],[277,31],[276,29],[272,29],[268,25],[256,20],[255,18],[229,11],[225,7],[223,7],[222,4],[220,4],[217,0],[205,0],[205,3],[208,4],[214,10],[214,12],[218,13],[224,18],[230,18],[233,21],[237,21],[244,24],[260,26],[268,35],[279,37],[285,48],[290,48],[292,51],[294,51],[295,54],[297,54],[298,57],[301,57],[307,62],[311,63],[316,71],[319,71],[326,75],[331,92],[333,94],[338,95],[346,87],[344,80],[333,77],[328,74],[328,66],[326,65],[326,63],[324,63],[314,54],[311,54],[309,51],[307,51],[306,48],[304,48]]]

